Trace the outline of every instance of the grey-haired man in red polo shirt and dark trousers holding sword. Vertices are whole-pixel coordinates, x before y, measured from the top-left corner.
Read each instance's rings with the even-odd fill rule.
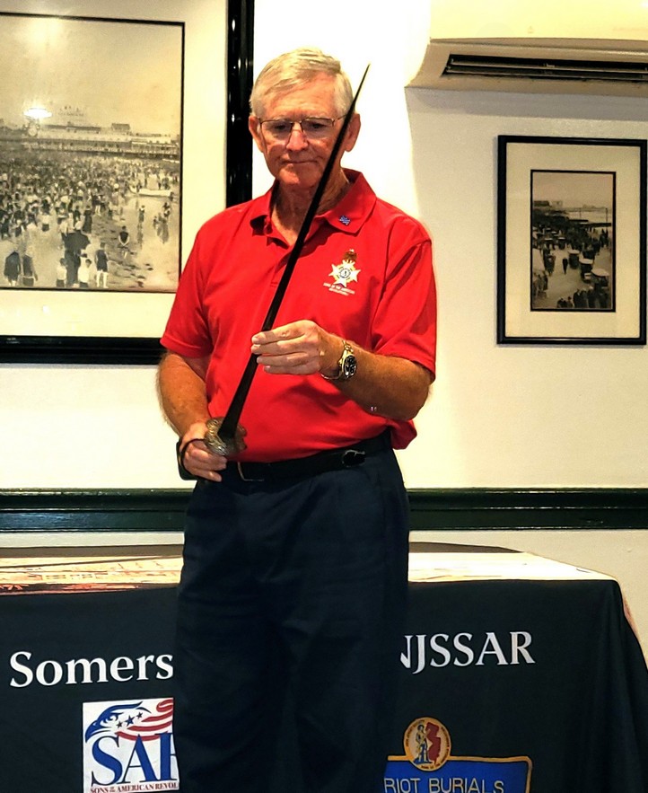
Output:
[[[423,226],[340,164],[355,113],[276,323],[260,330],[352,100],[319,50],[258,75],[250,133],[274,185],[197,233],[162,337],[162,407],[197,478],[175,655],[183,793],[267,793],[279,754],[293,790],[382,789],[407,595],[393,449],[416,436],[433,381],[435,298]],[[206,422],[250,355],[226,459]],[[277,746],[286,711],[294,745]]]

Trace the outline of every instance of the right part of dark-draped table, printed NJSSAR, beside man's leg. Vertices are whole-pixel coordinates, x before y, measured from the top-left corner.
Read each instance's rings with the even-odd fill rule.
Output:
[[[617,582],[530,554],[413,551],[394,755],[416,756],[421,722],[438,755],[420,773],[390,760],[385,790],[645,793],[648,673]]]

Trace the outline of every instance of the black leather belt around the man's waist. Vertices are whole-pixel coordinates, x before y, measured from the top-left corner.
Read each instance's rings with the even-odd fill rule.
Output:
[[[278,460],[276,463],[227,463],[225,473],[243,481],[275,481],[315,476],[326,471],[342,471],[362,465],[367,454],[376,454],[389,449],[390,431],[358,441],[356,444],[326,452],[298,457],[294,460]]]

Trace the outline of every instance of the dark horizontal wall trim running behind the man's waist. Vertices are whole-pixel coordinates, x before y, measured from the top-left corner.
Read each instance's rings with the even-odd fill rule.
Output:
[[[4,490],[0,532],[181,532],[188,489]],[[413,489],[411,528],[648,529],[648,489]]]

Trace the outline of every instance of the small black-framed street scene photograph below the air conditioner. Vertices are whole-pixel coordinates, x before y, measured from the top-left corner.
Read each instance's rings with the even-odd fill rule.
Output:
[[[646,342],[646,142],[500,136],[497,341]]]

